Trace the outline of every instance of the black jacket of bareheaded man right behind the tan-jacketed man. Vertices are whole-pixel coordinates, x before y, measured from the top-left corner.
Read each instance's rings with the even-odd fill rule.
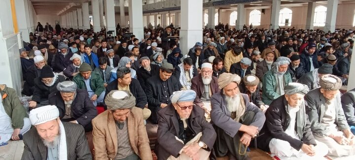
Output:
[[[112,90],[118,90],[118,81],[117,79],[113,80],[106,87],[105,97]],[[147,104],[147,97],[137,79],[132,78],[131,84],[129,85],[130,91],[134,97],[136,97],[136,107],[144,108]]]

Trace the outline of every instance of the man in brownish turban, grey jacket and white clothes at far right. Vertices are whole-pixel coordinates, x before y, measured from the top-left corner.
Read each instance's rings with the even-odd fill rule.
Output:
[[[342,157],[355,154],[355,136],[341,107],[339,89],[340,78],[326,74],[320,77],[320,88],[310,91],[306,96],[307,115],[316,140],[325,143],[328,156]]]

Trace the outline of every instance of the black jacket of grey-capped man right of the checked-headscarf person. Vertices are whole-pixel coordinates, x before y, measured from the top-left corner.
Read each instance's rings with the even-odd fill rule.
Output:
[[[140,81],[142,89],[145,91],[147,79],[154,75],[159,75],[160,66],[156,64],[150,64],[150,72],[144,69],[144,67],[140,67],[137,70],[137,79]]]

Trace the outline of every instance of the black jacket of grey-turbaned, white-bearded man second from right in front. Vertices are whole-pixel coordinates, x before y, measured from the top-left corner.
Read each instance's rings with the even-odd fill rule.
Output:
[[[270,104],[270,107],[266,110],[266,121],[264,127],[260,131],[264,134],[257,138],[258,148],[264,151],[270,151],[269,143],[272,138],[277,138],[289,142],[289,144],[297,151],[301,149],[303,143],[308,145],[317,145],[316,140],[312,134],[311,124],[308,120],[307,114],[305,114],[304,117],[304,121],[306,123],[305,126],[303,126],[303,133],[298,133],[302,134],[301,140],[292,138],[284,132],[290,123],[290,116],[288,114],[288,110],[286,110],[287,104],[288,103],[286,101],[286,98],[284,96],[280,96],[276,98]],[[297,123],[295,124],[295,128],[296,126]]]

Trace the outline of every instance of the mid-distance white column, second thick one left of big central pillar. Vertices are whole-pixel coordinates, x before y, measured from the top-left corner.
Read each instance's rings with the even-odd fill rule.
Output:
[[[106,0],[106,31],[114,31],[112,35],[116,35],[116,21],[114,17],[114,2],[113,0]]]

